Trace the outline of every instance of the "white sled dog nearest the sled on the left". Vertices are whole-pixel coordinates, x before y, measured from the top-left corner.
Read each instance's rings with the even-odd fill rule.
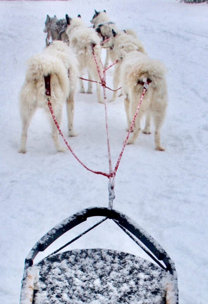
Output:
[[[27,131],[36,109],[43,108],[48,114],[52,126],[52,139],[58,152],[66,148],[59,143],[58,130],[52,119],[45,95],[44,76],[50,75],[50,102],[57,122],[61,123],[62,106],[66,102],[68,116],[68,135],[76,136],[73,128],[74,94],[78,79],[77,61],[69,47],[62,41],[54,41],[42,53],[31,57],[28,62],[25,82],[20,92],[20,116],[22,135],[19,153],[26,153]]]

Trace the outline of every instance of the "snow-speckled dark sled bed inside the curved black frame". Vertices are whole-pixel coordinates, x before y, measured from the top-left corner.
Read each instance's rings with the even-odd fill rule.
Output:
[[[169,274],[161,268],[114,250],[70,250],[33,268],[40,270],[37,304],[160,304],[169,282]]]

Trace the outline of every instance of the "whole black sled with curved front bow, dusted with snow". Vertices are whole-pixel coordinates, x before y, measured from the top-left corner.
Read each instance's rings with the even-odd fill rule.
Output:
[[[62,234],[88,217],[113,220],[158,264],[108,249],[76,249],[37,264],[33,260]],[[163,248],[137,223],[119,211],[92,207],[65,219],[46,233],[25,259],[20,304],[178,304],[175,265]]]

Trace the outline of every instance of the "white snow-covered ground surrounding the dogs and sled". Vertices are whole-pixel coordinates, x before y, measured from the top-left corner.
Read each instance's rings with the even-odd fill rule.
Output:
[[[81,14],[90,26],[94,9],[106,9],[121,29],[136,30],[149,56],[162,60],[169,71],[169,106],[161,133],[166,151],[154,150],[153,134],[141,134],[126,147],[115,179],[114,208],[143,226],[173,259],[179,302],[204,304],[208,295],[208,5],[175,0],[0,2],[0,302],[18,303],[24,259],[43,234],[79,210],[108,206],[107,178],[86,171],[69,151],[55,152],[41,110],[29,128],[28,153],[18,154],[18,94],[25,61],[45,45],[46,15]],[[110,87],[112,72],[107,77]],[[122,97],[108,105],[108,116],[115,165],[126,136]],[[61,126],[66,134],[65,111]],[[69,143],[79,158],[94,170],[108,171],[104,106],[96,102],[95,88],[93,95],[76,94],[75,130],[79,136],[69,138]],[[73,229],[51,251],[94,222]],[[110,221],[70,248],[87,247],[139,254]]]

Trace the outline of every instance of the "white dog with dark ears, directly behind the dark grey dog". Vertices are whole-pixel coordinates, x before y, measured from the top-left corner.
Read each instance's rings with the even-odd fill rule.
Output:
[[[98,70],[96,67],[96,62],[93,57],[92,51],[94,49],[97,62],[99,65],[99,71],[102,75],[102,62],[101,62],[101,46],[100,38],[92,28],[87,28],[82,21],[80,15],[75,18],[70,18],[66,14],[66,34],[69,37],[70,45],[69,47],[75,52],[78,59],[79,71],[82,74],[83,70],[87,68],[88,77],[90,80],[100,82]],[[98,102],[103,103],[103,98],[101,97],[100,84],[96,84],[97,98]],[[85,93],[83,81],[80,79],[80,93]],[[88,81],[87,93],[92,93],[92,82]]]

